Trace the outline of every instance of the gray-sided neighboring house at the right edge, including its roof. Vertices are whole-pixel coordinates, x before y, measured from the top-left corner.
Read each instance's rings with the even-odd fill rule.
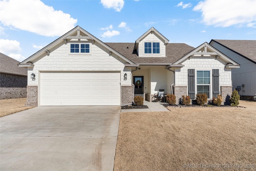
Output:
[[[243,100],[253,100],[256,94],[256,40],[211,40],[210,45],[238,62],[232,70],[232,86]]]

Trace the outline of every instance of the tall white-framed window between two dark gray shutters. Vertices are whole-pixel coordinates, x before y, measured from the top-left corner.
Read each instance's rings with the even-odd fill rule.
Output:
[[[196,72],[196,88],[197,94],[206,93],[210,98],[210,71]]]

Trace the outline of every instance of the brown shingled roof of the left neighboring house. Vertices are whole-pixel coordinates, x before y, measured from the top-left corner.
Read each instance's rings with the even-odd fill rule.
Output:
[[[21,68],[18,66],[20,62],[0,53],[0,72],[6,74],[22,75],[27,76],[27,68]]]

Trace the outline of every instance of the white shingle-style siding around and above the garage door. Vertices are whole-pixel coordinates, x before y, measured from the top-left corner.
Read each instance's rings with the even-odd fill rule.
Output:
[[[40,71],[66,71],[66,72],[95,72],[95,71],[120,71],[122,85],[131,85],[131,69],[125,68],[127,62],[95,42],[91,44],[90,55],[70,54],[70,44],[61,44],[50,50],[50,55],[40,56],[33,61],[34,67],[28,68],[28,76],[36,74],[36,80],[28,77],[28,85],[38,85]],[[124,80],[124,74],[127,80]]]

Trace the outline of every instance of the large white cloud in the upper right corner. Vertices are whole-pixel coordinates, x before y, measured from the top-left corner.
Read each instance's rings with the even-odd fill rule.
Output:
[[[205,0],[200,1],[194,11],[202,12],[203,22],[210,26],[233,25],[254,27],[256,21],[255,0]]]

